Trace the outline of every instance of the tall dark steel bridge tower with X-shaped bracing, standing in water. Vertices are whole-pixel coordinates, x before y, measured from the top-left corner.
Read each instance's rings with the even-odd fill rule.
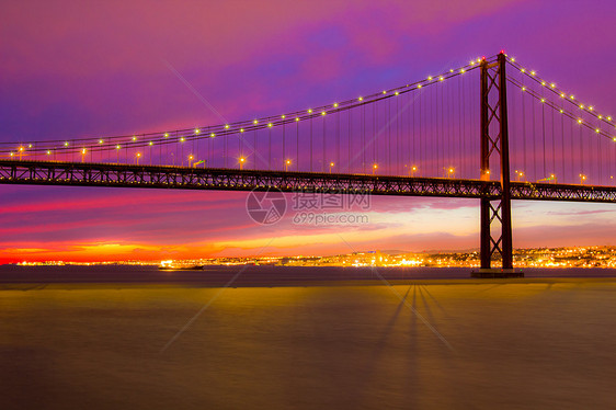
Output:
[[[494,62],[481,62],[481,179],[491,179],[490,157],[494,153],[500,160],[501,190],[495,196],[484,192],[480,200],[481,269],[471,272],[472,277],[524,276],[513,269],[505,64],[503,53]],[[499,224],[500,236],[493,236],[492,225]],[[502,269],[492,269],[494,254],[501,257]]]

